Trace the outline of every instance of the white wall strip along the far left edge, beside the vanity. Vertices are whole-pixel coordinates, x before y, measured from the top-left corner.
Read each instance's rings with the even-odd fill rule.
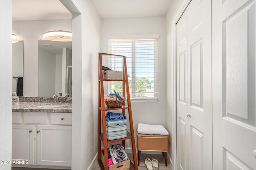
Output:
[[[0,160],[12,160],[12,1],[0,5]],[[0,164],[10,170],[11,164]]]

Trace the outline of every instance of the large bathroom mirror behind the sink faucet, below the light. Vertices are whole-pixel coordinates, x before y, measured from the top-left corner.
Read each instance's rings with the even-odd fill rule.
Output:
[[[38,96],[72,96],[72,41],[38,40]]]

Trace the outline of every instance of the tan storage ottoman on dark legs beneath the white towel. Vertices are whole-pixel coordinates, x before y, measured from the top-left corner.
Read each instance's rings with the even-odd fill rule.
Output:
[[[137,135],[137,150],[138,150],[138,165],[140,164],[140,152],[141,150],[146,151],[159,151],[162,152],[165,160],[165,166],[167,166],[166,153],[169,150],[168,138],[169,135],[147,135],[140,134],[138,131]]]

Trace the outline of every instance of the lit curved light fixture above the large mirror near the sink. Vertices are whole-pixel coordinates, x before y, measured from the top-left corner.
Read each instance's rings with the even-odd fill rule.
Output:
[[[72,32],[70,31],[48,31],[44,33],[43,39],[51,41],[72,41]]]

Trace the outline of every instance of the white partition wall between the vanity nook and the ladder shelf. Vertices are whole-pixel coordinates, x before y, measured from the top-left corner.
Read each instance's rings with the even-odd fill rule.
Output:
[[[90,0],[60,1],[72,13],[72,170],[86,170],[98,146],[101,23]]]

